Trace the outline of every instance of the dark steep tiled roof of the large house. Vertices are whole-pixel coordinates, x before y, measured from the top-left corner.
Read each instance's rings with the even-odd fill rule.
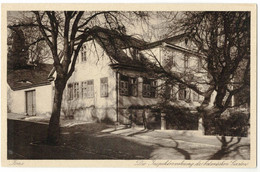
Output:
[[[180,34],[160,41],[148,43],[144,40],[134,38],[115,30],[109,30],[101,27],[95,27],[93,38],[105,50],[107,55],[123,66],[131,66],[134,68],[144,68],[145,65],[154,65],[145,56],[140,54],[131,54],[129,57],[124,49],[134,48],[137,50],[147,50],[162,45],[164,42],[176,42],[185,38],[187,34]]]

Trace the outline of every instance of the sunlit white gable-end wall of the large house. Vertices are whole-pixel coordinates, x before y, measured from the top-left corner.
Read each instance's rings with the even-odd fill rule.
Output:
[[[95,115],[98,118],[103,118],[105,115],[109,115],[110,119],[116,120],[116,73],[109,66],[110,59],[103,49],[96,43],[95,46],[92,41],[85,43],[87,48],[87,61],[81,61],[81,53],[79,53],[79,61],[76,64],[75,71],[68,83],[79,83],[78,99],[73,101],[67,100],[68,87],[64,91],[63,108],[83,109],[84,114],[81,114],[80,119],[88,119],[93,115],[93,112],[89,110],[90,106],[95,106]],[[100,78],[108,77],[108,97],[101,97],[100,95]],[[94,97],[82,98],[81,82],[87,80],[94,80]],[[91,108],[90,108],[91,109]],[[82,112],[79,112],[82,113]],[[86,117],[82,117],[82,115]]]

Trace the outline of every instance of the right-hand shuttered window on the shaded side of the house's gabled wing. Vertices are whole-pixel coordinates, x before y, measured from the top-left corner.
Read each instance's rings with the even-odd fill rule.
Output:
[[[143,97],[155,98],[157,97],[157,81],[150,79],[143,79]]]

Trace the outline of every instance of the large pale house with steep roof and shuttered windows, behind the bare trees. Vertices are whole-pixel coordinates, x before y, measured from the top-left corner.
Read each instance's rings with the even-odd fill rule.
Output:
[[[107,40],[111,35],[100,34],[83,45],[65,89],[62,105],[65,116],[86,121],[142,123],[143,115],[151,114],[151,107],[164,98],[161,95],[164,81],[151,75],[146,67],[158,62],[164,68],[171,63],[169,70],[183,77],[193,72],[197,79],[205,79],[199,55],[183,48],[187,47],[185,35],[153,43],[124,38],[126,44],[112,36],[119,40],[110,45]],[[183,85],[167,87],[167,94],[175,102],[199,105],[202,101],[201,96]],[[160,120],[158,114],[156,120]]]

